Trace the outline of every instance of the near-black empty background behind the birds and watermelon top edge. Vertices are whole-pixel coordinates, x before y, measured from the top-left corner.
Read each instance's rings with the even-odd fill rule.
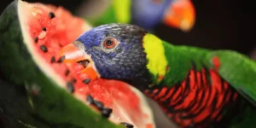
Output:
[[[74,10],[81,0],[26,0],[27,2],[52,3]],[[2,12],[12,0],[1,2]],[[208,49],[234,49],[249,54],[256,47],[255,12],[253,1],[192,0],[195,5],[195,27],[190,32],[160,25],[155,34],[172,44],[186,44]]]

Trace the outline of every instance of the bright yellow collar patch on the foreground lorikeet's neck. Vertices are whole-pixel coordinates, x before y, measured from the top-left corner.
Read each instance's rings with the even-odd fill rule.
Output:
[[[160,38],[148,33],[143,38],[143,48],[147,54],[148,71],[153,76],[152,84],[157,84],[166,75],[166,69],[168,69],[164,45]]]

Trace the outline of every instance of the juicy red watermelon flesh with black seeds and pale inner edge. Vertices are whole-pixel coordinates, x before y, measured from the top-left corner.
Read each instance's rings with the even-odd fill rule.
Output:
[[[126,122],[138,128],[154,127],[151,109],[138,90],[129,84],[107,79],[84,84],[83,80],[87,76],[81,73],[84,69],[82,65],[61,62],[61,56],[58,55],[60,49],[88,31],[90,25],[61,7],[21,1],[18,3],[24,42],[38,67],[49,79],[87,105],[85,97],[90,95],[94,100],[102,102],[104,107],[112,108],[113,113],[109,119],[115,123]]]

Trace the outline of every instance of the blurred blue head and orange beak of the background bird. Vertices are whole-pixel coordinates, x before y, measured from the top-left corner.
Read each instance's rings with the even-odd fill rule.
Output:
[[[195,8],[190,0],[134,0],[131,8],[134,23],[147,30],[163,22],[189,32],[195,24]]]

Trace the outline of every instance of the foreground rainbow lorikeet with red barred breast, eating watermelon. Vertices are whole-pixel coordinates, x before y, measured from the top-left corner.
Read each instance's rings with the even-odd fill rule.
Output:
[[[97,26],[61,50],[91,79],[118,79],[181,127],[255,127],[256,61],[227,49],[175,46],[126,24]]]

